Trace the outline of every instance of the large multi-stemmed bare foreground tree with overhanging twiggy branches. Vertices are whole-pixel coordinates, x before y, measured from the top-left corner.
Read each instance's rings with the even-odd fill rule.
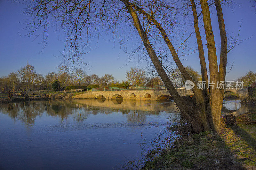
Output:
[[[69,50],[69,58],[73,59],[73,62],[79,61],[81,54],[91,49],[90,42],[92,37],[95,33],[98,33],[99,28],[104,26],[108,26],[107,30],[113,32],[113,36],[117,35],[121,44],[125,45],[125,41],[121,39],[122,34],[115,33],[118,33],[118,30],[124,31],[125,29],[122,28],[128,26],[130,35],[134,35],[133,33],[139,35],[142,43],[140,43],[138,49],[143,54],[146,52],[147,56],[149,56],[164,85],[179,107],[181,116],[190,124],[192,132],[197,133],[203,130],[216,132],[221,128],[220,115],[224,95],[224,89],[218,89],[217,82],[225,81],[227,67],[227,35],[221,8],[222,1],[214,0],[211,4],[208,4],[207,0],[198,0],[196,2],[190,0],[188,2],[189,9],[187,13],[186,10],[180,8],[179,3],[176,1],[30,0],[26,12],[32,18],[31,22],[28,21],[27,24],[32,28],[31,34],[43,28],[44,38],[47,38],[47,28],[53,18],[60,25],[60,28],[67,33],[66,45],[69,48],[65,49]],[[215,7],[219,21],[219,65],[211,23],[211,12],[214,11],[210,11],[209,6]],[[203,18],[202,28],[207,42],[209,79],[211,83],[215,83],[213,88],[205,88],[204,90],[197,89],[197,85],[195,85],[192,89],[195,94],[195,100],[179,95],[167,75],[170,70],[168,70],[163,60],[164,56],[171,55],[182,76],[186,80],[194,82],[180,61],[181,56],[189,54],[189,52],[187,54],[183,53],[183,49],[187,46],[187,39],[183,41],[183,37],[176,36],[180,39],[182,50],[180,50],[180,47],[175,48],[175,41],[172,39],[175,37],[175,33],[180,31],[179,28],[182,27],[175,20],[175,17],[180,13],[188,16],[188,18],[190,16],[193,18],[191,22],[194,25],[194,33],[191,33],[189,37],[196,36],[202,80],[206,81],[207,87],[208,74],[198,24],[198,17]],[[176,29],[178,31],[175,32]],[[129,37],[129,34],[125,35]],[[216,36],[217,34],[215,34]],[[165,47],[167,47],[168,51],[165,50]],[[189,51],[189,49],[185,51]]]

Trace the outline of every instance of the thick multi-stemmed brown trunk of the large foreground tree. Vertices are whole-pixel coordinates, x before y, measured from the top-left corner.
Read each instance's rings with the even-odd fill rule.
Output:
[[[221,115],[221,107],[222,107],[224,90],[217,89],[216,83],[220,79],[223,80],[223,77],[225,81],[225,74],[223,74],[223,72],[225,70],[225,73],[226,73],[226,67],[225,67],[226,65],[224,63],[225,63],[225,59],[227,58],[227,55],[225,55],[225,51],[227,52],[227,48],[225,48],[225,43],[222,43],[221,45],[222,70],[220,70],[221,72],[221,75],[220,75],[218,71],[215,41],[214,41],[214,35],[212,32],[210,11],[209,11],[207,1],[201,0],[200,2],[201,2],[201,8],[202,8],[203,19],[204,19],[204,29],[205,29],[206,40],[207,40],[210,82],[215,83],[215,85],[213,86],[213,89],[210,88],[209,90],[198,90],[196,88],[197,86],[195,85],[195,88],[193,89],[193,92],[195,94],[195,100],[196,100],[195,102],[193,102],[193,100],[189,98],[180,97],[179,93],[172,85],[172,82],[170,81],[166,72],[164,71],[163,66],[159,62],[158,57],[156,56],[156,53],[152,48],[148,40],[148,37],[140,24],[140,19],[137,16],[137,13],[134,11],[134,9],[142,13],[145,17],[147,17],[148,21],[151,22],[152,25],[156,26],[159,29],[160,33],[163,36],[164,41],[166,42],[167,46],[170,49],[170,52],[172,53],[173,59],[177,64],[181,74],[186,80],[193,81],[192,78],[188,75],[182,63],[180,62],[178,54],[176,53],[174,47],[172,46],[172,43],[169,40],[164,28],[152,16],[150,16],[147,12],[145,12],[143,9],[141,9],[137,5],[130,3],[128,0],[123,0],[123,2],[127,10],[129,11],[130,15],[132,16],[134,26],[136,27],[144,43],[144,47],[146,48],[152,63],[154,64],[159,76],[163,80],[167,90],[172,95],[172,98],[174,99],[176,105],[179,107],[181,116],[185,118],[188,121],[188,123],[191,125],[193,133],[198,133],[204,130],[212,130],[214,132],[217,132],[221,128],[220,115]],[[206,63],[204,59],[204,49],[203,49],[200,31],[198,27],[198,18],[196,14],[196,5],[194,0],[191,0],[191,4],[192,4],[193,16],[194,16],[194,27],[196,32],[196,39],[198,43],[199,59],[201,63],[202,79],[204,81],[208,81]],[[224,25],[220,3],[216,4],[216,9],[218,13],[218,19],[220,18],[219,23],[222,22]],[[225,30],[225,26],[223,25],[221,25],[221,28],[222,29],[224,28]],[[226,33],[224,33],[223,30],[222,32],[220,31],[220,33],[223,35],[223,37],[224,37],[224,34],[226,35]]]

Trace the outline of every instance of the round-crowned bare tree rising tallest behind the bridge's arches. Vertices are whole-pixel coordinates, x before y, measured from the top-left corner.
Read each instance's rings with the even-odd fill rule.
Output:
[[[130,71],[126,71],[126,79],[131,82],[133,86],[143,86],[146,83],[145,70],[131,68]]]

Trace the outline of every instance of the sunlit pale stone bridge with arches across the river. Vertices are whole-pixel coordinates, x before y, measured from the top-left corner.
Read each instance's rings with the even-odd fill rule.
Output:
[[[192,90],[177,88],[180,96],[193,95]],[[235,92],[241,99],[248,97],[248,88],[226,89],[226,92]],[[90,91],[73,96],[74,99],[123,99],[123,100],[168,100],[172,99],[166,89],[151,90],[117,90],[117,91]]]

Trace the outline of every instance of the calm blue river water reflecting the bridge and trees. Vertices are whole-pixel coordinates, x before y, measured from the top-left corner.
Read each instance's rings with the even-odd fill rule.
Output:
[[[224,101],[223,109],[256,110],[238,102]],[[0,169],[119,169],[141,158],[140,143],[150,142],[161,130],[154,126],[168,126],[170,116],[178,116],[173,101],[50,100],[0,105]]]

